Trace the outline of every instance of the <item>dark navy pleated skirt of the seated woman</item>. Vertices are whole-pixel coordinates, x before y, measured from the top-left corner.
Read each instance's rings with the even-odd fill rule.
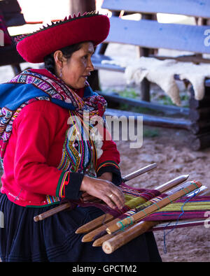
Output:
[[[1,261],[161,261],[152,232],[140,235],[112,254],[105,254],[102,247],[92,247],[92,242],[81,242],[83,234],[75,234],[76,229],[103,214],[94,207],[65,210],[34,222],[36,215],[54,207],[25,208],[10,202],[5,194],[0,193]]]

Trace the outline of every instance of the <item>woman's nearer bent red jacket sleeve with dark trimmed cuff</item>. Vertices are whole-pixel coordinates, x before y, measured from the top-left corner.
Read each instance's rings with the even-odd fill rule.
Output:
[[[83,175],[58,170],[48,164],[48,154],[57,135],[59,119],[55,110],[47,108],[53,103],[42,103],[41,110],[38,110],[37,104],[34,104],[36,108],[31,108],[33,103],[29,105],[30,108],[25,107],[17,118],[15,181],[27,191],[61,198],[66,196],[64,187],[67,185],[69,199],[78,199]]]

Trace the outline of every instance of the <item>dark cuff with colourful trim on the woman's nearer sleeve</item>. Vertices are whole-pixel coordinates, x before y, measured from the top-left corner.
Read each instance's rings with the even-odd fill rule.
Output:
[[[82,194],[80,186],[83,181],[83,173],[63,172],[59,177],[57,196],[69,200],[78,200]]]

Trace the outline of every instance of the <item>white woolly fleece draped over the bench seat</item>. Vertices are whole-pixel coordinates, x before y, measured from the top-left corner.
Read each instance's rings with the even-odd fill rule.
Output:
[[[102,61],[103,63],[116,64],[125,67],[127,84],[137,85],[147,78],[156,83],[175,103],[181,105],[179,87],[176,85],[174,75],[179,75],[181,80],[188,80],[194,88],[195,99],[198,101],[204,97],[204,80],[210,78],[210,64],[193,64],[174,59],[159,60],[154,57],[140,57],[139,59],[116,58]]]

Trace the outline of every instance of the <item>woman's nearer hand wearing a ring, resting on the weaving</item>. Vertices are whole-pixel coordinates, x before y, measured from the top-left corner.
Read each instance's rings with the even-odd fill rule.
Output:
[[[95,198],[99,198],[104,201],[110,208],[118,208],[122,209],[125,205],[125,197],[123,192],[113,183],[108,180],[105,180],[106,177],[110,177],[110,173],[105,175],[104,173],[99,178],[93,178],[89,176],[84,176],[82,184],[80,186],[80,190],[84,191],[83,193],[83,201],[90,201]],[[103,178],[103,179],[102,179]],[[92,197],[94,198],[92,198]]]

